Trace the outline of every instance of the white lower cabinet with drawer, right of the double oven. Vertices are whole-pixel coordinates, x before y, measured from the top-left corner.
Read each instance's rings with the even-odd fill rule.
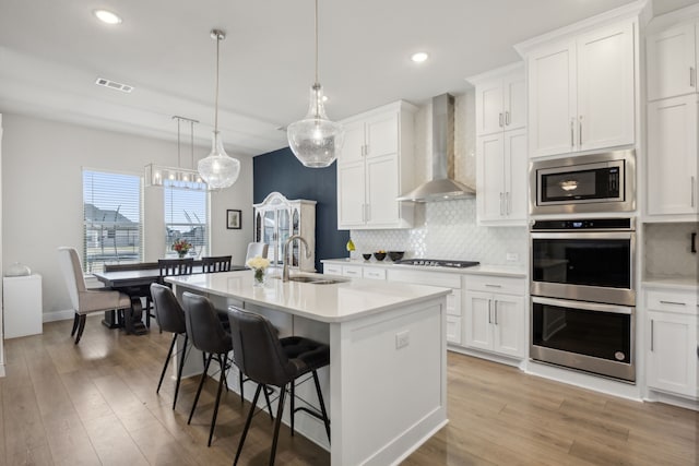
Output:
[[[651,390],[697,399],[697,298],[691,291],[649,290],[645,375]]]

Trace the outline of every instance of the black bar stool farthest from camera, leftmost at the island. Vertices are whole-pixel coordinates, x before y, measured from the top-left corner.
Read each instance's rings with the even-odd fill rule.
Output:
[[[173,350],[175,349],[177,337],[185,337],[185,343],[180,349],[179,366],[177,367],[177,382],[175,382],[175,396],[173,397],[173,409],[175,409],[180,381],[182,380],[182,368],[187,356],[187,344],[189,342],[187,324],[185,322],[185,310],[180,306],[173,290],[165,285],[157,283],[151,284],[151,296],[153,297],[153,308],[155,309],[155,319],[158,326],[164,332],[173,333],[173,343],[170,343],[170,349],[167,351],[167,356],[165,357],[163,372],[161,372],[161,380],[157,382],[155,393],[161,392],[161,385],[163,385],[165,372],[167,371],[170,358],[173,357]]]

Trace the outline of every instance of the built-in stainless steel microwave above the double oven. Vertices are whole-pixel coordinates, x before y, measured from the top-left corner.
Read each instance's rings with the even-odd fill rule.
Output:
[[[530,214],[636,208],[636,154],[613,151],[530,164]]]

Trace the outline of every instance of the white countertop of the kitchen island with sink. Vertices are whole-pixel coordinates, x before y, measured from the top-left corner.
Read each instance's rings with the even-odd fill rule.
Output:
[[[268,276],[264,287],[252,286],[252,271],[167,277],[166,282],[199,291],[239,299],[320,322],[344,322],[447,296],[449,288],[343,278],[333,285],[282,282]],[[298,274],[328,278],[321,274]]]

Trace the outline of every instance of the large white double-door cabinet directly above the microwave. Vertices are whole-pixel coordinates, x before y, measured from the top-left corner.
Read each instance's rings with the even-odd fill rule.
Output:
[[[526,55],[530,156],[633,144],[635,25],[600,27]]]

